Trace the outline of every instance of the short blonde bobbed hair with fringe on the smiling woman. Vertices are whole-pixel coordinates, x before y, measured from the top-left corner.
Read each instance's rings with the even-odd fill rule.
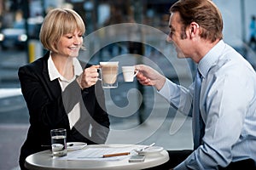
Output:
[[[63,35],[76,29],[84,35],[84,21],[78,13],[69,8],[54,8],[44,18],[39,35],[40,41],[44,48],[58,52],[55,47],[56,42],[59,42]]]

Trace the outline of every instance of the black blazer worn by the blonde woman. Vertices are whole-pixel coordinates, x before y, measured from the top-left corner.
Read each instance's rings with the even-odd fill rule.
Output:
[[[50,145],[50,129],[66,128],[67,142],[102,144],[108,137],[109,119],[101,83],[98,81],[95,86],[81,90],[75,80],[61,92],[58,80],[49,80],[48,59],[49,52],[19,69],[21,91],[30,115],[27,138],[20,150],[21,164],[26,156],[49,149],[44,146]],[[90,66],[80,63],[83,68]],[[80,118],[70,130],[67,113],[79,101],[84,102],[80,105]]]

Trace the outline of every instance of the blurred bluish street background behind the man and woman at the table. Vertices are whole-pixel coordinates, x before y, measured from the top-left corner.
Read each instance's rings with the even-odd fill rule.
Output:
[[[0,169],[19,169],[20,146],[26,139],[29,116],[17,71],[44,55],[38,34],[49,9],[73,8],[83,18],[87,50],[79,59],[91,64],[120,60],[121,65],[152,65],[173,82],[188,87],[196,65],[189,59],[176,59],[172,44],[165,41],[169,8],[175,2],[0,0]],[[251,37],[256,32],[256,1],[213,2],[223,14],[224,41],[255,68],[256,44]],[[190,119],[161,99],[154,88],[142,87],[137,81],[125,83],[120,74],[119,88],[105,93],[111,121],[108,144],[155,142],[166,150],[192,148]]]

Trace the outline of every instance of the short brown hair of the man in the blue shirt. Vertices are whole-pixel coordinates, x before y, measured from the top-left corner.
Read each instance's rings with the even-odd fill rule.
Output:
[[[196,22],[201,26],[201,37],[211,42],[223,38],[223,20],[217,6],[210,0],[179,0],[170,8],[180,14],[183,30]]]

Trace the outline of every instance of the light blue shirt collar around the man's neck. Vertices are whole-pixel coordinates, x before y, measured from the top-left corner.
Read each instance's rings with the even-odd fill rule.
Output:
[[[225,43],[220,40],[199,62],[197,68],[202,77],[206,77],[212,65],[215,65],[220,57],[220,52],[224,50]]]

